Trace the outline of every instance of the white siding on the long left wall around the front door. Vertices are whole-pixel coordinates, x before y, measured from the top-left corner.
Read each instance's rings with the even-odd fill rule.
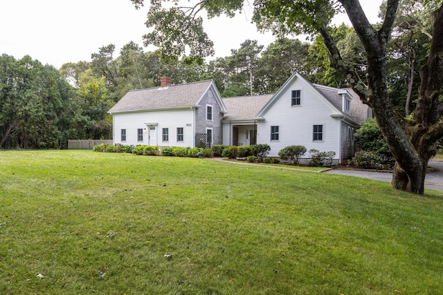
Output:
[[[128,145],[149,144],[148,134],[150,126],[157,123],[156,144],[159,146],[190,146],[194,147],[194,109],[155,111],[145,113],[114,114],[114,144]],[[177,128],[183,127],[183,142],[177,142]],[[162,129],[169,129],[169,141],[162,142]],[[120,130],[126,129],[126,142],[120,140]],[[143,142],[137,141],[137,129],[146,129],[143,132]]]

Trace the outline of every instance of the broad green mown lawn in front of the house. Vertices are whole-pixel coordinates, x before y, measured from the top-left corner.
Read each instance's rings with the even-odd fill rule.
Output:
[[[0,167],[0,294],[442,292],[437,191],[92,151]]]

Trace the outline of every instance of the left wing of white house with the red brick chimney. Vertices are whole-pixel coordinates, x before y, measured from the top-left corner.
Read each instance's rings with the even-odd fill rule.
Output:
[[[213,81],[129,91],[109,112],[114,144],[207,146],[221,144],[226,107]]]

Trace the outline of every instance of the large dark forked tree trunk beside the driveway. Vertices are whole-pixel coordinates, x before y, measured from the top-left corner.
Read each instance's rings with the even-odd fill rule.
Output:
[[[392,110],[386,80],[386,45],[397,12],[397,0],[388,0],[386,17],[379,30],[374,30],[356,0],[340,0],[365,47],[368,58],[368,87],[354,78],[352,68],[343,66],[335,44],[322,31],[331,57],[331,64],[350,77],[350,84],[363,102],[372,107],[381,133],[395,160],[392,187],[411,193],[424,193],[424,178],[429,159],[435,154],[435,142],[443,136],[443,103],[439,100],[443,84],[443,6],[435,11],[434,32],[426,66],[420,70],[422,79],[413,120]],[[354,81],[352,81],[354,80]]]

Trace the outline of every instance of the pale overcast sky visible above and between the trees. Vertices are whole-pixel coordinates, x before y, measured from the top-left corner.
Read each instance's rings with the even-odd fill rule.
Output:
[[[376,22],[381,0],[361,3],[370,21]],[[0,54],[16,59],[30,55],[56,68],[66,62],[91,61],[91,53],[108,44],[116,45],[118,56],[129,41],[143,46],[147,10],[136,10],[129,0],[0,0]],[[230,55],[230,49],[239,48],[246,39],[265,47],[274,41],[271,33],[257,32],[246,15],[251,11],[235,19],[204,19],[216,57]],[[349,23],[347,18],[341,21]]]

